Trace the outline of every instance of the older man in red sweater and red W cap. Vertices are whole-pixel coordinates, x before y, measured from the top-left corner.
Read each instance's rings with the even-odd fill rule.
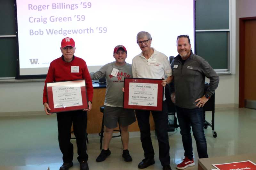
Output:
[[[75,50],[75,41],[72,38],[67,37],[61,41],[60,51],[62,56],[51,62],[44,85],[44,111],[46,115],[52,115],[48,112],[51,108],[47,101],[46,83],[77,79],[85,79],[86,82],[88,109],[57,113],[58,139],[60,151],[63,154],[63,165],[60,167],[60,170],[68,170],[69,167],[73,166],[73,144],[70,142],[72,122],[76,136],[77,159],[80,162],[80,169],[89,169],[85,133],[87,127],[87,111],[90,111],[92,108],[93,87],[87,65],[82,58],[74,55]]]

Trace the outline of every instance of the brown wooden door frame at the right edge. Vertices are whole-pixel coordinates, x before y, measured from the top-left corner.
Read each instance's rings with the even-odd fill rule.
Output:
[[[245,73],[245,22],[256,20],[256,17],[239,18],[239,108],[245,106],[244,102],[244,73]]]

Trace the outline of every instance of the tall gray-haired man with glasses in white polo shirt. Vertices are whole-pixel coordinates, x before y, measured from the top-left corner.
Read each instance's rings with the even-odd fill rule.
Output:
[[[172,81],[172,69],[166,55],[151,47],[152,37],[148,32],[141,31],[137,34],[137,43],[141,53],[132,59],[133,78],[163,79],[162,85]],[[165,75],[167,76],[166,79]],[[170,146],[168,139],[168,114],[167,103],[164,96],[163,111],[151,111],[159,144],[159,159],[163,170],[170,170]],[[138,167],[143,169],[155,163],[154,149],[150,137],[149,110],[135,110],[140,128],[140,141],[144,150],[144,157]]]

